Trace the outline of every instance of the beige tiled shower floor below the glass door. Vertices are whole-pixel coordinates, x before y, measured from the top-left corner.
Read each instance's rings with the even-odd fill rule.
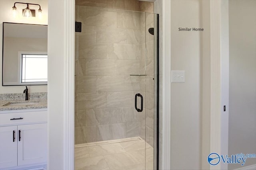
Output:
[[[153,148],[140,137],[75,145],[75,170],[152,170]]]

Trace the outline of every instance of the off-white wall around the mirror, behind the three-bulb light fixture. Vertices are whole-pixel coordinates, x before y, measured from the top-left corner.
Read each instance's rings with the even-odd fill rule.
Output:
[[[18,2],[40,4],[42,9],[42,18],[38,17],[26,18],[22,17],[22,9],[26,8],[26,5],[16,4],[19,17],[14,18],[12,15],[12,6],[16,0],[0,0],[0,94],[3,93],[22,93],[24,86],[2,86],[2,28],[3,22],[13,23],[32,23],[48,25],[48,0],[19,0]],[[37,6],[30,6],[31,9],[38,10]],[[29,92],[47,92],[47,86],[28,86]]]

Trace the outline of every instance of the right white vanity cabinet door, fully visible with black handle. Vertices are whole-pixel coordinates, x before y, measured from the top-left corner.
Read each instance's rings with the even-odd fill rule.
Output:
[[[46,162],[47,124],[18,126],[18,165]]]

